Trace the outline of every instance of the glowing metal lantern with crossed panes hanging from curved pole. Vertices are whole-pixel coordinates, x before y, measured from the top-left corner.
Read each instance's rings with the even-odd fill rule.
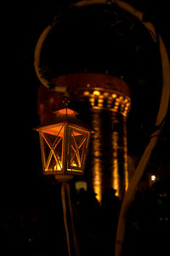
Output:
[[[35,128],[40,136],[44,174],[61,180],[83,174],[92,131],[76,114],[70,108],[60,109],[51,122]]]

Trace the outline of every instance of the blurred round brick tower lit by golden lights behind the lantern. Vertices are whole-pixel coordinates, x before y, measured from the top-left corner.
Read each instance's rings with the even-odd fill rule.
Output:
[[[127,114],[131,101],[128,84],[122,79],[101,73],[73,73],[52,79],[67,86],[80,118],[94,129],[85,179],[99,201],[106,189],[116,189],[121,199],[128,184]],[[40,87],[37,108],[42,122],[62,107],[59,92]]]

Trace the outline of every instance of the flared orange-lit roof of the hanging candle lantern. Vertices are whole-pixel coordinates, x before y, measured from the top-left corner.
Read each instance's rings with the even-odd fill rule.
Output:
[[[76,115],[78,113],[70,108],[61,108],[57,111],[54,111],[53,118],[48,120],[48,122],[42,123],[34,128],[36,131],[48,128],[49,126],[61,125],[61,124],[70,124],[77,127],[82,126],[86,131],[92,131],[89,125],[82,122],[82,120],[77,119]],[[93,131],[92,131],[93,132]]]

